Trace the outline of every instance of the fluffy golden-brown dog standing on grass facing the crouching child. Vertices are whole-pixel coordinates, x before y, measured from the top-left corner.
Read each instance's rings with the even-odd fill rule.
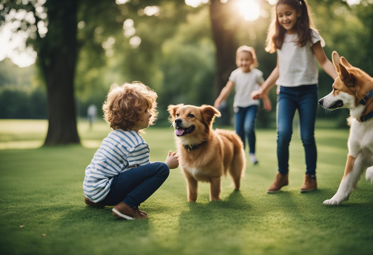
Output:
[[[175,129],[179,166],[187,182],[188,202],[197,199],[197,181],[210,182],[210,201],[220,199],[220,183],[229,171],[235,189],[245,171],[241,138],[232,130],[212,129],[220,112],[208,105],[170,105],[170,122]]]

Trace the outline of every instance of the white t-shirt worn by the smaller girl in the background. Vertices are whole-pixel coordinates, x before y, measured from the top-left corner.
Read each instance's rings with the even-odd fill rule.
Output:
[[[258,90],[264,82],[263,73],[260,70],[253,68],[250,72],[244,73],[239,67],[231,73],[229,81],[234,82],[236,86],[233,107],[260,105],[259,100],[251,98],[251,92]]]

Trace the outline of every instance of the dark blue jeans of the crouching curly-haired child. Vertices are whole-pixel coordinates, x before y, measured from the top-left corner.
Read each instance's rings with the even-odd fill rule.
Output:
[[[130,207],[139,206],[162,185],[169,173],[167,163],[159,161],[119,173],[113,177],[107,196],[98,204],[116,205],[123,201]]]

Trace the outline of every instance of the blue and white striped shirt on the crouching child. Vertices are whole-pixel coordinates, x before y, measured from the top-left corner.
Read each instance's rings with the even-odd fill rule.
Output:
[[[150,163],[149,151],[149,145],[136,131],[115,129],[110,132],[85,169],[84,195],[96,203],[103,200],[114,176]]]

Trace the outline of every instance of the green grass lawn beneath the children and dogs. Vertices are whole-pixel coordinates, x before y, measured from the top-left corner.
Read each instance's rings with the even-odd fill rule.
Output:
[[[141,209],[147,221],[117,220],[111,207],[84,204],[82,182],[109,128],[79,123],[83,144],[34,149],[45,121],[0,120],[1,254],[371,254],[373,187],[363,177],[350,200],[323,205],[338,189],[347,155],[348,130],[317,129],[319,190],[300,193],[304,152],[297,133],[290,147],[289,186],[267,194],[276,170],[276,132],[257,130],[259,165],[248,162],[241,190],[222,180],[222,200],[209,202],[199,183],[196,203],[186,202],[179,169]],[[296,129],[295,129],[296,130]],[[19,133],[21,132],[21,133]],[[143,135],[151,161],[175,150],[173,131],[150,127]],[[97,145],[97,146],[98,146]],[[23,226],[23,227],[20,227]]]

